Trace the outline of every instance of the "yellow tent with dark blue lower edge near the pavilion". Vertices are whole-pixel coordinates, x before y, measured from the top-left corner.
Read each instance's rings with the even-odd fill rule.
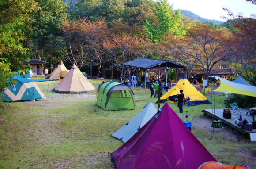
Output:
[[[199,105],[199,104],[211,104],[206,97],[203,96],[192,84],[189,83],[185,76],[182,76],[178,83],[166,92],[161,98],[160,102],[164,102],[167,99],[177,98],[177,94],[180,90],[183,90],[185,101],[188,106]]]

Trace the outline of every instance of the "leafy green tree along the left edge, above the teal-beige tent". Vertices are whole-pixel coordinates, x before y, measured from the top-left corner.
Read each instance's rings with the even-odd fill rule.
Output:
[[[0,1],[0,90],[14,84],[14,74],[18,71],[25,74],[29,66],[23,65],[28,55],[23,41],[26,40],[25,28],[30,13],[36,9],[33,0],[1,0]],[[25,23],[25,24],[24,24]]]

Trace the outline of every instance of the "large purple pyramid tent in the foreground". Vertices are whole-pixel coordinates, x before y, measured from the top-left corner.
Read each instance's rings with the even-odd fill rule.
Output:
[[[111,153],[117,169],[197,169],[217,162],[169,104],[159,114]]]

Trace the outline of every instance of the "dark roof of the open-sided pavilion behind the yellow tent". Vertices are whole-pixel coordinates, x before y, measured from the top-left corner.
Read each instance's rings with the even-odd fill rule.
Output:
[[[144,68],[153,68],[158,65],[160,65],[160,67],[165,67],[166,64],[167,64],[167,67],[189,68],[188,66],[184,66],[184,65],[175,63],[173,61],[161,60],[161,59],[150,59],[150,58],[138,58],[133,61],[128,61],[126,63],[123,63],[122,65],[144,69]]]

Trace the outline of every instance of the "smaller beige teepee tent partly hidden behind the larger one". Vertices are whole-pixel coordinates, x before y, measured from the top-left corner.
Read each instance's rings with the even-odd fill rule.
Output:
[[[63,79],[68,74],[68,69],[65,67],[62,61],[53,70],[53,72],[46,79],[60,80]]]

